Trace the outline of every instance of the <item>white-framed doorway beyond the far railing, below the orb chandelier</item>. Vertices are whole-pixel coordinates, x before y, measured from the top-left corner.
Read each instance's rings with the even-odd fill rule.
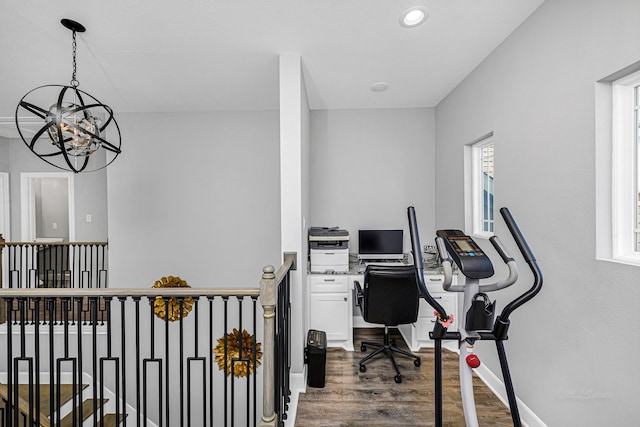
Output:
[[[73,179],[70,172],[20,174],[23,241],[75,241]]]

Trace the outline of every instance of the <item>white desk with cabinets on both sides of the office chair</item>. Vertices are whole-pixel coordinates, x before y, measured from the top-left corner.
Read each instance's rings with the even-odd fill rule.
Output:
[[[353,283],[356,280],[363,283],[363,272],[363,268],[354,266],[346,274],[309,274],[309,329],[324,331],[328,347],[353,351],[354,327],[383,327],[365,322],[359,307],[355,305]],[[424,277],[429,293],[456,319],[449,330],[457,331],[458,294],[442,288],[444,276],[438,270],[425,270]],[[455,285],[455,276],[453,280]],[[411,325],[400,325],[398,329],[411,351],[418,351],[422,347],[433,347],[429,332],[433,330],[434,323],[433,308],[425,300],[420,300],[418,321]],[[456,350],[458,343],[443,341],[443,346]]]

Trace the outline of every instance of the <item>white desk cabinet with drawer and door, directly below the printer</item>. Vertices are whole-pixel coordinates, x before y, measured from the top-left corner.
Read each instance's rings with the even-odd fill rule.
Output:
[[[309,276],[309,329],[324,331],[328,347],[353,350],[351,292],[347,275]]]

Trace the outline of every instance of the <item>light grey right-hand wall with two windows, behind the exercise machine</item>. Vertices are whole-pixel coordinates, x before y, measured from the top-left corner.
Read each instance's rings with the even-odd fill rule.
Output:
[[[464,226],[463,147],[493,131],[496,207],[541,264],[506,348],[518,396],[549,426],[638,423],[640,270],[595,259],[594,93],[640,59],[639,16],[638,1],[547,0],[436,108],[436,225]],[[497,234],[517,252],[501,219]],[[516,290],[503,293],[500,309]],[[500,376],[493,346],[480,350]]]

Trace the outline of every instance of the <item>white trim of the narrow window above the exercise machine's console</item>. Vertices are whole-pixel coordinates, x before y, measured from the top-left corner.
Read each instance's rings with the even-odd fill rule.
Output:
[[[488,239],[494,235],[482,229],[483,182],[478,179],[482,173],[482,148],[493,143],[493,132],[491,132],[465,147],[465,229],[473,237],[482,239]]]

